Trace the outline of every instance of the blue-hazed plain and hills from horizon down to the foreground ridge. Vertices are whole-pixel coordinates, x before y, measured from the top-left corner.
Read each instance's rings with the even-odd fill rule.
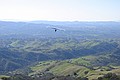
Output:
[[[82,59],[82,66],[119,65],[119,26],[119,22],[58,22],[53,25],[0,21],[0,73],[39,61],[90,55],[92,57]],[[65,31],[54,32],[52,27]]]

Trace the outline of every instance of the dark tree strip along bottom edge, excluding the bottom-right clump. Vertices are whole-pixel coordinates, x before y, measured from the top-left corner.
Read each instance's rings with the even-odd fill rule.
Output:
[[[73,76],[55,76],[51,73],[47,74],[36,74],[32,76],[27,76],[23,74],[15,74],[10,77],[2,77],[2,80],[88,80],[86,77],[73,77]]]

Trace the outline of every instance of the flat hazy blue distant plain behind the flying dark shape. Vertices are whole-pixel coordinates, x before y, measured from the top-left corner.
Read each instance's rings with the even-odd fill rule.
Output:
[[[120,22],[5,22],[0,21],[1,38],[118,38]],[[62,28],[55,33],[51,28]]]

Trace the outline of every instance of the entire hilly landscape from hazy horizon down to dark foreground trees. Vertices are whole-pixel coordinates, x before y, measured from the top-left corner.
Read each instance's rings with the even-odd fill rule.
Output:
[[[119,26],[119,22],[0,21],[0,74],[50,72],[90,79],[108,72],[119,75]],[[52,27],[65,31],[54,32]]]

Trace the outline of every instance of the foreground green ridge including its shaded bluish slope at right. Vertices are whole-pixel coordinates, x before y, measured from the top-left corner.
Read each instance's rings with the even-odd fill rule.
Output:
[[[114,57],[114,59],[116,58]],[[56,76],[70,75],[76,77],[87,77],[89,80],[97,79],[107,73],[120,75],[120,66],[113,66],[113,63],[115,63],[114,59],[110,56],[100,55],[63,61],[43,61],[32,66],[31,70],[33,72],[29,75],[52,73]],[[105,61],[107,61],[107,63]],[[119,59],[117,62],[119,62]]]

